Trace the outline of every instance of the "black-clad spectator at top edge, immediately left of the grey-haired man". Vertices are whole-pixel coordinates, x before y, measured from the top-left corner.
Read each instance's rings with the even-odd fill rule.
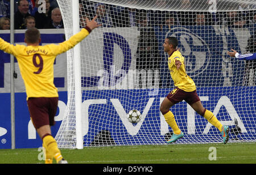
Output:
[[[35,8],[34,8],[34,10],[36,9],[35,15],[34,15],[35,21],[36,21],[35,27],[38,29],[42,29],[44,28],[45,24],[48,24],[49,22],[51,22],[51,13],[53,8],[51,7],[49,0],[44,0],[46,2],[46,12],[45,13],[39,12],[38,7],[40,5],[38,4],[38,1],[39,0],[35,1]]]

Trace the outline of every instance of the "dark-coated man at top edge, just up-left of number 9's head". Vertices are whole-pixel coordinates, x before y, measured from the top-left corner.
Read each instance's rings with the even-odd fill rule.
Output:
[[[28,13],[28,1],[27,0],[19,0],[18,1],[18,11],[16,11],[14,15],[14,29],[22,29],[24,28],[24,20],[27,16],[30,16]]]

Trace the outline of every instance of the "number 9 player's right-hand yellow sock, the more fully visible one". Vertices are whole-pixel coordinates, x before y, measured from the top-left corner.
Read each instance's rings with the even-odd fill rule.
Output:
[[[51,135],[44,136],[43,144],[46,146],[49,156],[54,157],[57,163],[63,158],[57,146],[56,140]]]

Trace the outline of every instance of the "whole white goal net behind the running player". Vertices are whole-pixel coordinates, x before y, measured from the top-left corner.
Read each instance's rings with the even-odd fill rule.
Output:
[[[255,142],[256,62],[227,54],[256,51],[255,1],[79,1],[79,19],[72,15],[72,1],[58,3],[66,39],[77,27],[74,20],[83,28],[86,18],[98,15],[102,24],[81,42],[78,66],[76,51],[67,54],[68,102],[55,137],[59,147],[77,148],[77,139],[82,147],[167,144],[172,129],[159,110],[174,89],[163,50],[167,36],[179,41],[203,106],[229,125],[229,142]],[[133,109],[141,112],[138,123],[127,119]],[[170,110],[184,133],[177,144],[222,142],[218,129],[185,101]]]

